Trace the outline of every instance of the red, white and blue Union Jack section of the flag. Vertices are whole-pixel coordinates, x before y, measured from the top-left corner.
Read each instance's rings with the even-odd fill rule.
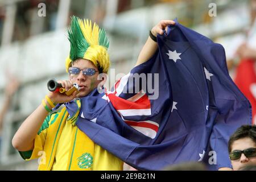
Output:
[[[133,76],[129,74],[122,77],[115,83],[114,91],[106,92],[103,98],[112,103],[127,125],[153,139],[156,137],[159,124],[150,120],[143,121],[143,116],[151,116],[151,104],[147,94],[141,91],[126,99],[127,94],[122,93],[129,78],[133,78]]]

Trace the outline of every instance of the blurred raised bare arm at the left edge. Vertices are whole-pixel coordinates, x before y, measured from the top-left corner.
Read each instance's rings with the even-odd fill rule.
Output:
[[[2,103],[2,108],[0,110],[0,147],[2,140],[2,130],[3,130],[3,122],[5,120],[5,116],[7,111],[9,110],[11,100],[14,96],[14,93],[19,88],[19,81],[10,73],[7,73],[7,86],[5,87],[4,100]]]

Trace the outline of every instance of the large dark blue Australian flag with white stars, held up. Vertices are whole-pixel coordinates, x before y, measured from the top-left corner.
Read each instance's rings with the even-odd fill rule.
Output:
[[[136,81],[135,73],[146,81]],[[134,85],[140,92],[127,93]],[[224,48],[176,21],[158,35],[155,55],[112,92],[95,89],[81,98],[77,126],[137,169],[191,161],[218,169],[232,168],[229,137],[250,123],[250,103],[229,77]]]

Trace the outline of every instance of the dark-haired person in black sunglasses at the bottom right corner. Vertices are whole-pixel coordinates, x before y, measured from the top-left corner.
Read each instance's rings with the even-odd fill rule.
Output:
[[[256,126],[238,128],[229,139],[228,150],[234,171],[256,166]]]

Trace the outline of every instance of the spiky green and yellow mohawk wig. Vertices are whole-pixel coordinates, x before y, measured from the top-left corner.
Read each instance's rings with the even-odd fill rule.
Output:
[[[76,59],[87,59],[99,69],[100,73],[108,73],[109,61],[109,40],[106,31],[93,24],[88,19],[82,21],[73,16],[71,26],[68,28],[68,40],[70,52],[66,60],[66,71],[71,67],[72,61]]]

